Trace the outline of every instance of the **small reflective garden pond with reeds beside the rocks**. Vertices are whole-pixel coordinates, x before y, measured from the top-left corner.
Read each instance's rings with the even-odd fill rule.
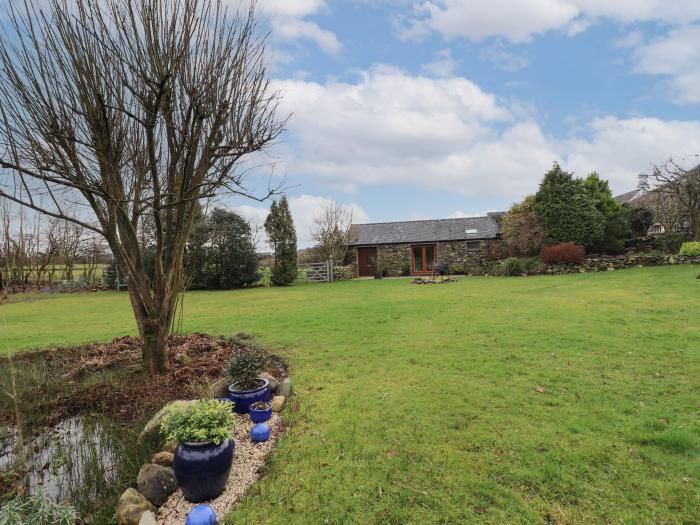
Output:
[[[136,445],[137,436],[105,418],[63,420],[29,440],[24,482],[30,492],[69,502],[83,524],[110,522],[117,498],[149,452]],[[0,471],[23,471],[16,440],[14,429],[0,429]]]

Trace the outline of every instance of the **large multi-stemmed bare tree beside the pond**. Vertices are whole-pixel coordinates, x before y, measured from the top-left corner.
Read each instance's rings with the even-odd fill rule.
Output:
[[[47,2],[11,2],[0,41],[0,196],[104,236],[128,275],[144,367],[160,372],[198,201],[275,190],[244,180],[285,124],[255,1]]]

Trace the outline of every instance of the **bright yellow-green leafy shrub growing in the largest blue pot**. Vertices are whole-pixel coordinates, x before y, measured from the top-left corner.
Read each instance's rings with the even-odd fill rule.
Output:
[[[220,445],[231,438],[232,426],[230,402],[203,399],[185,408],[170,408],[163,417],[160,429],[168,441]]]

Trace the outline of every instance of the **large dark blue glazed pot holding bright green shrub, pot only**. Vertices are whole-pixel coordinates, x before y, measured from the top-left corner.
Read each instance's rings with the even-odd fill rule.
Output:
[[[221,494],[231,472],[235,448],[232,439],[225,439],[221,445],[180,443],[177,446],[173,469],[187,501],[199,503]]]

